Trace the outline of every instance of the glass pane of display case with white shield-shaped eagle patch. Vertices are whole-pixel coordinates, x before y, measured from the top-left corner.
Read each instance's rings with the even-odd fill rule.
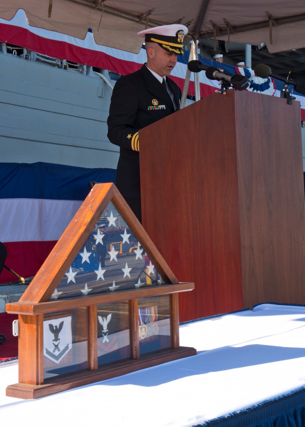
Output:
[[[88,369],[88,308],[44,314],[44,379]]]

